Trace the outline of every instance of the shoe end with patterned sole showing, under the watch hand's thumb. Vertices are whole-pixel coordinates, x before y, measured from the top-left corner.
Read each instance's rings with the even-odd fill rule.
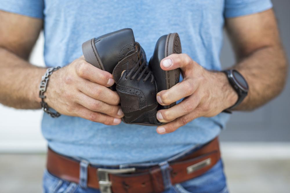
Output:
[[[155,45],[153,56],[149,61],[149,67],[155,75],[155,81],[157,84],[157,91],[167,90],[173,87],[179,82],[180,69],[174,69],[170,71],[164,71],[160,67],[160,62],[163,58],[171,54],[180,54],[181,43],[177,33],[161,36]],[[159,109],[168,109],[174,106],[176,103],[172,103],[168,106],[159,105]]]

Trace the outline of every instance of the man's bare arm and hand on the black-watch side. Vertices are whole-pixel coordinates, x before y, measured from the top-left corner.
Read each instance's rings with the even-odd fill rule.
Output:
[[[280,43],[273,10],[226,19],[226,29],[233,44],[237,69],[247,80],[247,97],[235,110],[253,110],[276,97],[283,89],[287,60]],[[170,59],[170,60],[167,60]],[[163,66],[165,64],[170,64]],[[197,117],[211,117],[235,104],[238,99],[226,75],[207,71],[186,54],[172,54],[161,61],[161,68],[181,68],[184,80],[171,89],[157,93],[157,100],[168,105],[185,99],[170,109],[160,110],[157,119],[168,124],[158,133],[170,133]]]

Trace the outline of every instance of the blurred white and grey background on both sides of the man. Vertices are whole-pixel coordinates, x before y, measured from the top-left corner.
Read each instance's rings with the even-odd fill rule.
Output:
[[[272,2],[289,58],[290,1]],[[235,59],[224,35],[221,61],[225,68]],[[40,34],[30,58],[35,65],[44,66],[43,44]],[[283,93],[267,105],[253,112],[234,112],[222,131],[222,156],[231,192],[289,193],[289,96],[290,79]],[[41,135],[41,117],[41,110],[15,110],[0,104],[0,192],[42,191],[46,141]]]

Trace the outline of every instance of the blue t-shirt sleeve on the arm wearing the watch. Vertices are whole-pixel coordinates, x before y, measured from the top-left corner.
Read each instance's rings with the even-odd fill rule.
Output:
[[[259,13],[272,6],[271,0],[225,0],[224,16],[230,18]]]

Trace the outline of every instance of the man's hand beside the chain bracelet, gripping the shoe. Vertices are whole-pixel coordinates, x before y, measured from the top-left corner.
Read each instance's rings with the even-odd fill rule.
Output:
[[[52,73],[45,102],[63,115],[117,125],[124,113],[118,106],[119,95],[108,88],[114,83],[112,74],[87,63],[81,56]]]

